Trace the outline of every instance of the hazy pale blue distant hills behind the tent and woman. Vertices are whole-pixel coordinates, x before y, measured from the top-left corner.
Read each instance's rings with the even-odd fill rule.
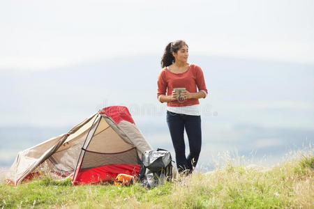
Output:
[[[201,161],[234,150],[278,162],[313,143],[314,64],[190,56],[204,72]],[[98,109],[125,105],[154,148],[172,150],[156,100],[160,56],[129,56],[33,71],[0,69],[0,167],[18,150],[67,132]],[[173,150],[172,150],[173,151]],[[250,154],[251,153],[251,154]]]

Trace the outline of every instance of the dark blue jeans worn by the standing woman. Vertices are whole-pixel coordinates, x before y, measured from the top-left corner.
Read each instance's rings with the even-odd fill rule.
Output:
[[[170,130],[172,144],[176,153],[178,171],[186,169],[192,171],[197,164],[202,146],[202,130],[200,116],[175,114],[167,111],[167,123]],[[184,144],[184,128],[188,135],[190,154],[186,157],[186,145]]]

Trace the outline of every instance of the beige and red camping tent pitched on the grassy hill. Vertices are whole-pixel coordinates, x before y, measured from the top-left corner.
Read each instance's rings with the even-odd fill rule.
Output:
[[[68,133],[22,150],[8,172],[13,185],[41,172],[73,184],[101,183],[119,173],[134,175],[149,143],[135,125],[126,107],[105,107],[75,125]]]

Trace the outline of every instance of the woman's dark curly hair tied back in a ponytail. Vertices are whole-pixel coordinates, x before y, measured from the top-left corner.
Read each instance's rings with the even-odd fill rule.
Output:
[[[181,47],[184,45],[188,47],[184,40],[176,40],[174,42],[168,43],[160,61],[161,68],[165,68],[174,63],[174,56],[172,55],[172,52],[177,54],[178,50],[181,49]]]

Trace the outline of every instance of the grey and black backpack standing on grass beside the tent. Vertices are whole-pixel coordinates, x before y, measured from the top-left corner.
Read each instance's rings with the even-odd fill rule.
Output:
[[[153,188],[172,180],[172,157],[169,151],[158,148],[147,150],[142,157],[140,174],[142,185]]]

